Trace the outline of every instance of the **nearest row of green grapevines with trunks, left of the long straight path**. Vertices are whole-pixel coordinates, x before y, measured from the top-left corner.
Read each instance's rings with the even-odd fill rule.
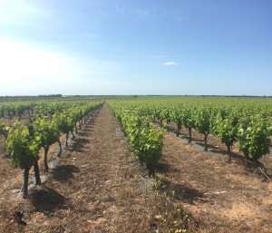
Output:
[[[71,103],[70,107],[62,109],[62,112],[55,112],[53,115],[34,116],[32,125],[16,121],[8,130],[2,123],[1,132],[5,132],[6,148],[10,151],[11,160],[15,168],[24,170],[24,194],[28,192],[29,170],[34,166],[35,184],[41,183],[38,160],[39,151],[44,149],[44,171],[48,170],[47,153],[53,143],[58,142],[60,153],[62,145],[61,133],[66,134],[66,145],[69,132],[77,131],[77,124],[82,126],[83,122],[94,112],[102,102],[77,102]],[[48,106],[48,105],[47,105]]]

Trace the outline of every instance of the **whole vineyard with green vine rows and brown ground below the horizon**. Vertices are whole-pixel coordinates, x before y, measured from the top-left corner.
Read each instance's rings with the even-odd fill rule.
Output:
[[[0,231],[270,232],[271,136],[270,98],[2,102]]]

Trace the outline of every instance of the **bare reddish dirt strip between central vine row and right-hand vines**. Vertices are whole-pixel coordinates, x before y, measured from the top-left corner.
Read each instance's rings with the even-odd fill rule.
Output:
[[[160,180],[199,232],[272,232],[272,183],[165,133]]]

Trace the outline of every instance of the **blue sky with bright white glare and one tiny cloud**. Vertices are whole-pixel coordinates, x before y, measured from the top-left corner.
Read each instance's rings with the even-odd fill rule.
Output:
[[[0,96],[272,95],[271,0],[0,0]]]

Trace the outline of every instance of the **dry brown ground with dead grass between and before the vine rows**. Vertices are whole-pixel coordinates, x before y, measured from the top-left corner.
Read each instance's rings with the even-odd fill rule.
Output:
[[[272,183],[245,171],[238,156],[227,164],[216,138],[203,152],[201,135],[193,132],[188,144],[181,133],[165,132],[157,178],[150,179],[104,105],[60,159],[57,145],[50,149],[57,167],[42,172],[43,185],[31,185],[27,199],[19,193],[23,171],[12,167],[1,142],[0,232],[174,232],[180,205],[189,232],[271,232]]]

